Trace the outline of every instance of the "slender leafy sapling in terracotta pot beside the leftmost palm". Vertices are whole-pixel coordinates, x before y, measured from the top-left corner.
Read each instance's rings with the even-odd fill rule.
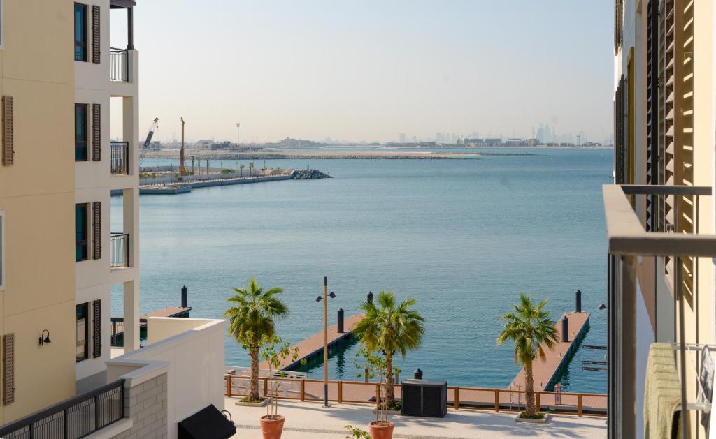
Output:
[[[266,405],[266,415],[261,416],[261,433],[263,439],[281,439],[281,433],[284,431],[285,416],[279,415],[279,388],[281,382],[275,380],[274,370],[278,370],[281,361],[291,358],[291,362],[296,361],[299,356],[299,348],[291,349],[289,342],[284,342],[281,337],[264,336],[263,349],[261,358],[269,363],[269,397],[270,402]],[[286,378],[286,373],[280,370],[281,378]]]

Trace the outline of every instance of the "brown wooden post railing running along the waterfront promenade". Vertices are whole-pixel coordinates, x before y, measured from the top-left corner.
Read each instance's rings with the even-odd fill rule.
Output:
[[[224,375],[224,395],[229,398],[248,395],[250,378],[240,375]],[[274,378],[281,382],[279,398],[301,401],[322,401],[323,380],[299,380]],[[258,391],[267,395],[269,378],[258,380]],[[395,385],[395,398],[402,398],[402,385]],[[545,413],[571,415],[606,415],[606,395],[602,393],[535,392],[537,410]],[[328,382],[328,400],[336,403],[364,403],[374,405],[380,400],[378,383],[359,381]],[[525,410],[525,391],[495,388],[470,388],[448,386],[448,406],[455,410],[522,411]]]

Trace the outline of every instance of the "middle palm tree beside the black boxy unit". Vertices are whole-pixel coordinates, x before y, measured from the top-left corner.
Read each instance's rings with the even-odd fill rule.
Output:
[[[397,305],[393,292],[381,291],[378,306],[374,302],[364,302],[361,310],[365,317],[353,328],[353,333],[369,352],[383,352],[385,356],[385,406],[395,405],[393,383],[393,355],[400,352],[402,359],[409,350],[420,347],[425,328],[425,319],[410,307],[415,299],[408,299]]]

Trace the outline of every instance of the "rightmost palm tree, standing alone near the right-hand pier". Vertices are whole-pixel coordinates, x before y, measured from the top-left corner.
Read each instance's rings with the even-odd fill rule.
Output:
[[[497,338],[497,345],[507,340],[515,343],[515,362],[525,368],[525,414],[528,417],[536,415],[532,362],[537,357],[544,362],[547,359],[544,347],[553,350],[558,342],[554,320],[549,318],[549,311],[543,310],[547,301],[534,306],[521,292],[519,305],[514,305],[513,312],[500,317],[505,321],[505,327]]]

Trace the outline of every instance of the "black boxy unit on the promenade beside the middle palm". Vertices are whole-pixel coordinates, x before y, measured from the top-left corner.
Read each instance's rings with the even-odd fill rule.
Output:
[[[402,382],[402,415],[444,418],[448,414],[448,382],[405,380]]]

